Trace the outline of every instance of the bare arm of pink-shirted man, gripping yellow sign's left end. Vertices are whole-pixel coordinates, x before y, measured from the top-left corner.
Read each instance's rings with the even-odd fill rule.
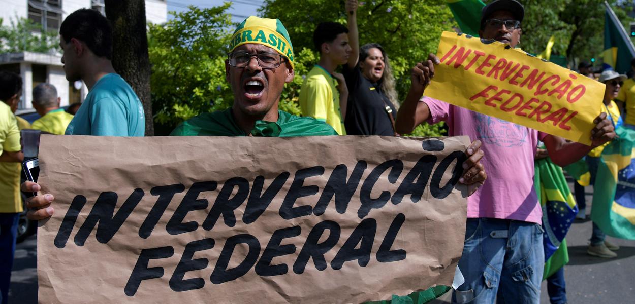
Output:
[[[435,54],[429,54],[428,59],[417,63],[410,73],[410,91],[406,100],[399,107],[395,129],[399,134],[408,134],[422,124],[430,116],[430,108],[419,99],[424,95],[425,88],[434,77],[434,65],[439,64]]]

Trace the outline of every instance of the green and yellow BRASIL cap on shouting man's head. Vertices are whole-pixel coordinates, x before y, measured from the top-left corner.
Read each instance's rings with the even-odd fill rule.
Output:
[[[291,68],[295,68],[293,63],[293,46],[289,33],[277,19],[259,18],[250,16],[243,23],[240,23],[229,41],[229,51],[234,51],[236,47],[247,43],[263,44],[275,49],[277,53],[291,63]]]

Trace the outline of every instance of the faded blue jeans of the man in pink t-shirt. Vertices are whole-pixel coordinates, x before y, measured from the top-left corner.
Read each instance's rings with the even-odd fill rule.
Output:
[[[540,224],[467,219],[458,267],[465,283],[452,303],[540,303],[545,264]]]

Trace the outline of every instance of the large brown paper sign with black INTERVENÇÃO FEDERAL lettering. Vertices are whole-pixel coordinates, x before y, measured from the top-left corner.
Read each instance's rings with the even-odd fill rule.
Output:
[[[469,139],[43,136],[41,303],[360,303],[450,286]]]

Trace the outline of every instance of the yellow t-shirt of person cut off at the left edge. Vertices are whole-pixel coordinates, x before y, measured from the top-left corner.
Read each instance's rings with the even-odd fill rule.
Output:
[[[20,151],[20,148],[17,117],[0,101],[0,153]],[[20,195],[20,163],[0,162],[0,213],[22,212]]]

